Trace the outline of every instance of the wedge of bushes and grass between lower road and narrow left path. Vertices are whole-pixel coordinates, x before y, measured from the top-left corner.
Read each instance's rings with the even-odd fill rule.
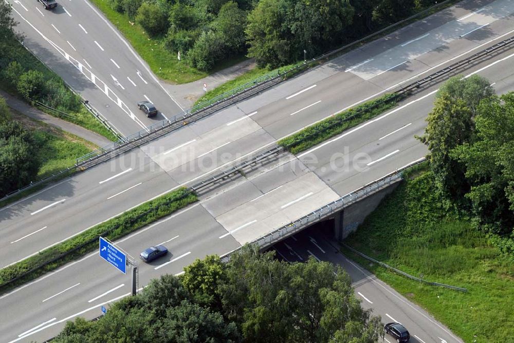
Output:
[[[0,88],[49,115],[95,131],[110,140],[117,140],[87,111],[81,98],[66,87],[56,73],[25,49],[20,43],[23,37],[13,30],[15,24],[10,6],[0,2]]]

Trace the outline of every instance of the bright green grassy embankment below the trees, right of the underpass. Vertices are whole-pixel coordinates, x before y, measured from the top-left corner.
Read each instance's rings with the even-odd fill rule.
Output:
[[[418,283],[342,251],[464,341],[512,341],[514,263],[468,219],[443,205],[434,181],[431,172],[409,175],[345,243],[411,275],[467,288],[467,293]]]

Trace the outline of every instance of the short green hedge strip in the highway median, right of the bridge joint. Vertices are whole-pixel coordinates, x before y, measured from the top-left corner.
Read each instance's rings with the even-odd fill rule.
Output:
[[[278,144],[286,147],[292,154],[297,154],[339,135],[348,128],[380,115],[396,106],[398,101],[398,97],[394,94],[386,94],[310,125],[296,134],[280,140]]]

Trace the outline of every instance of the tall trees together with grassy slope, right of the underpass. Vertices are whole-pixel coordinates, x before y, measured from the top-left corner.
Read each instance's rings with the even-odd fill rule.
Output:
[[[478,75],[437,93],[425,134],[430,163],[407,177],[345,242],[427,280],[420,284],[352,254],[469,342],[512,340],[514,92]],[[491,330],[491,328],[494,330]]]

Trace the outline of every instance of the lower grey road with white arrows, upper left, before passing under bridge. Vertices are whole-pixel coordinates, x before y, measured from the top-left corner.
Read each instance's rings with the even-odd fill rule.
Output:
[[[127,136],[183,108],[100,11],[85,0],[63,0],[45,10],[35,0],[10,2],[24,45],[122,135]],[[160,113],[146,118],[136,103],[150,100]]]

